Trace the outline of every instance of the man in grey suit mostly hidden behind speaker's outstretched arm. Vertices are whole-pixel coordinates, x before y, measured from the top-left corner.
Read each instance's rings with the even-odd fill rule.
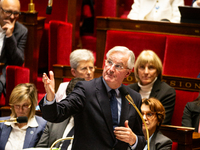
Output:
[[[84,81],[84,79],[83,78],[72,79],[67,86],[66,95],[70,94],[73,91],[74,86],[78,81]],[[51,147],[51,145],[57,139],[64,137],[72,137],[74,135],[73,127],[74,127],[73,117],[69,117],[61,123],[47,122],[42,137],[36,147]],[[64,148],[65,150],[71,150],[71,143],[72,141],[71,142],[67,141],[67,143],[59,142],[55,145],[55,147],[61,148],[61,150]]]

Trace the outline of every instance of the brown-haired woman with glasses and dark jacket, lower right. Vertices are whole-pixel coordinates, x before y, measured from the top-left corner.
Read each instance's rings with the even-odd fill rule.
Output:
[[[151,150],[171,150],[172,140],[164,136],[160,131],[165,118],[165,108],[159,100],[155,98],[143,99],[141,105],[142,116],[149,131],[149,143]],[[145,125],[142,125],[142,130],[147,140]],[[144,150],[147,150],[147,145]]]

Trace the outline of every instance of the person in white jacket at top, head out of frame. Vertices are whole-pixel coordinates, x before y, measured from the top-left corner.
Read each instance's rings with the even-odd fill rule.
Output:
[[[180,22],[178,6],[184,6],[184,0],[134,0],[127,18]]]

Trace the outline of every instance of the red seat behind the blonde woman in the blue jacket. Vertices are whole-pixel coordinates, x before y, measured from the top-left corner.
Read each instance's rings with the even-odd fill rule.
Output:
[[[0,106],[9,105],[9,97],[13,88],[20,83],[29,83],[30,70],[20,66],[7,66],[6,68],[6,97],[1,96]],[[2,94],[3,95],[3,94]]]

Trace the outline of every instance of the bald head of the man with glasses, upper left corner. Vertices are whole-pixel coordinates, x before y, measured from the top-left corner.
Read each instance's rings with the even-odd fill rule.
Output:
[[[18,0],[4,0],[0,7],[0,18],[13,22],[19,18],[20,4]]]

